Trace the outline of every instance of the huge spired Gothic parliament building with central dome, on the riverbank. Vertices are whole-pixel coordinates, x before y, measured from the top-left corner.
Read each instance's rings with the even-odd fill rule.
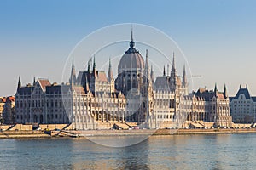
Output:
[[[74,129],[164,128],[186,121],[214,122],[230,127],[229,98],[224,92],[199,89],[189,94],[185,67],[177,75],[175,56],[172,69],[154,77],[153,67],[135,48],[131,32],[130,48],[119,60],[118,76],[113,77],[111,59],[108,74],[88,62],[78,75],[74,63],[69,82],[51,83],[40,79],[21,85],[15,94],[16,123],[65,123]]]

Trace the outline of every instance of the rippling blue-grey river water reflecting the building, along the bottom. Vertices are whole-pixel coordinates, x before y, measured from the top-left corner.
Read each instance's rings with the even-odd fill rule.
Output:
[[[0,139],[0,169],[256,169],[256,134],[151,136],[122,148],[88,139]]]

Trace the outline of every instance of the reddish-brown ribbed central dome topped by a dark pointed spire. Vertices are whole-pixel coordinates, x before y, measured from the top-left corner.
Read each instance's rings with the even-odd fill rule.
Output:
[[[140,70],[144,69],[144,59],[142,55],[134,48],[135,42],[133,42],[131,32],[130,48],[125,51],[119,62],[119,72],[128,70]]]

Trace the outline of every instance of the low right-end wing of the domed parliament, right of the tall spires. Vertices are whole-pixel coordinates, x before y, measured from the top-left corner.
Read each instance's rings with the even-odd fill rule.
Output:
[[[189,96],[183,97],[184,108],[188,121],[214,122],[214,127],[231,127],[230,102],[227,89],[219,92],[215,85],[214,90],[199,88]]]

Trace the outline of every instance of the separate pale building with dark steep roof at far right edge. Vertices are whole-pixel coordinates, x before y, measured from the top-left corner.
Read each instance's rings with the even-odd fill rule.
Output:
[[[256,122],[256,97],[250,95],[248,88],[239,88],[235,97],[230,97],[230,114],[234,122]]]

